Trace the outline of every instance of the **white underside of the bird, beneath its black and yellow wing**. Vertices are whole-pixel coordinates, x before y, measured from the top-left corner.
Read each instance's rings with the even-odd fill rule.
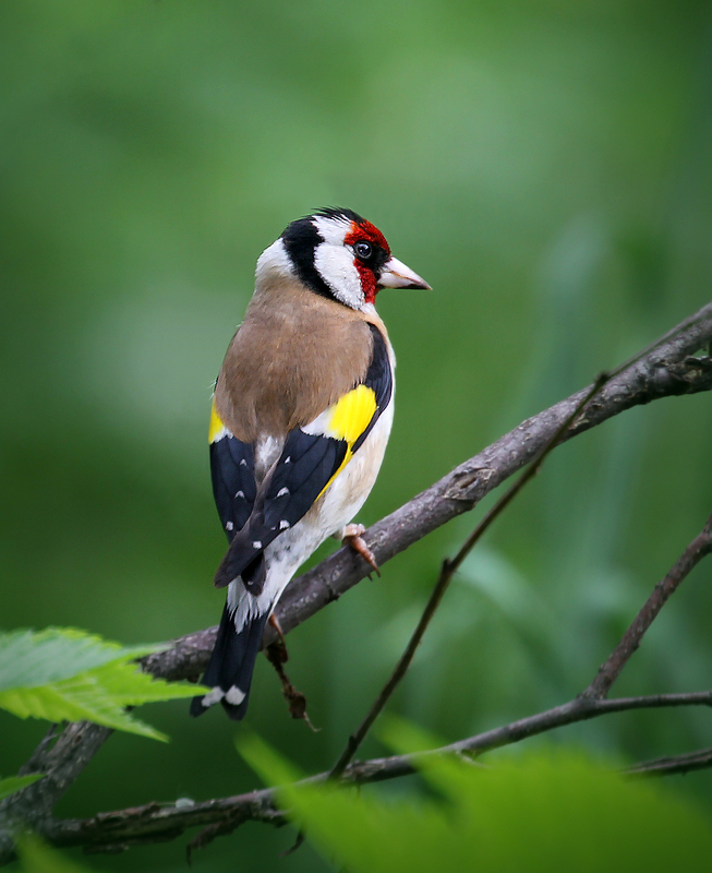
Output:
[[[395,385],[394,385],[395,387]],[[257,597],[246,591],[240,579],[228,587],[228,605],[234,609],[238,633],[246,622],[271,612],[297,570],[327,537],[347,525],[365,503],[376,480],[390,435],[393,396],[366,436],[363,445],[331,482],[325,494],[293,527],[285,530],[265,549],[267,578]],[[262,441],[255,451],[258,480],[281,453],[274,438]]]

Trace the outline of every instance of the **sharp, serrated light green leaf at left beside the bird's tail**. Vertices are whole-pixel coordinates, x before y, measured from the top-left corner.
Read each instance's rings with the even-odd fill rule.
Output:
[[[135,658],[159,646],[124,648],[75,629],[0,635],[0,707],[20,718],[95,721],[117,730],[167,740],[124,711],[155,701],[192,697],[195,685],[154,679]]]

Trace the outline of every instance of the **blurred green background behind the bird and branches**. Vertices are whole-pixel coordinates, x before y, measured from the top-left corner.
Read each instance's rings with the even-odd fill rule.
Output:
[[[210,385],[257,255],[315,207],[363,214],[434,288],[379,297],[398,398],[366,524],[710,299],[708,2],[5,0],[0,64],[4,629],[131,644],[218,621]],[[460,573],[391,710],[449,740],[583,687],[712,510],[711,427],[709,395],[668,399],[557,451]],[[264,662],[250,726],[329,766],[481,511],[290,635],[321,732]],[[711,574],[617,693],[710,686]],[[142,717],[172,742],[114,737],[59,815],[256,786],[221,713]],[[635,761],[709,745],[710,718],[559,737]],[[0,714],[0,773],[45,727]],[[709,798],[712,779],[684,787]],[[246,825],[194,868],[327,869],[309,847],[278,859],[292,839]],[[184,842],[94,866],[183,870]]]

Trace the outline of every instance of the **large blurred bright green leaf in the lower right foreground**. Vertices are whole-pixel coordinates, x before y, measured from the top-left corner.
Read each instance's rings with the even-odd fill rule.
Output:
[[[391,739],[412,746],[412,730]],[[407,742],[403,742],[407,740]],[[660,784],[625,781],[571,750],[500,756],[492,767],[424,756],[425,797],[300,785],[255,736],[238,748],[326,858],[353,873],[534,873],[576,870],[702,871],[710,816]],[[421,746],[422,748],[422,744]]]

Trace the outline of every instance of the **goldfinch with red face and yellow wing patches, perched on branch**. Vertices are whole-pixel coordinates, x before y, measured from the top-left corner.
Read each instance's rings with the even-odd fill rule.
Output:
[[[193,716],[220,703],[231,719],[244,717],[265,624],[327,537],[377,569],[351,521],[394,416],[396,359],[375,309],[382,288],[431,289],[348,208],[292,222],[257,260],[213,395],[210,474],[229,541],[214,584],[227,599],[202,679],[209,690],[193,698]]]

